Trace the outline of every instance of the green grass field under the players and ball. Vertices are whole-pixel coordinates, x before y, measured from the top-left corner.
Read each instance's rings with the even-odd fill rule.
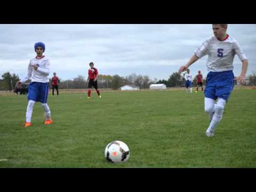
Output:
[[[256,167],[256,90],[234,90],[215,136],[202,92],[102,91],[49,94],[53,124],[36,103],[25,121],[27,95],[0,95],[0,167]],[[126,163],[106,161],[104,150],[124,141]]]

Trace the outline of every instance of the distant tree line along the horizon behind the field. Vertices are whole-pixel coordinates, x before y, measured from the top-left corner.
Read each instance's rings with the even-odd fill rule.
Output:
[[[256,74],[253,73],[247,78],[247,83],[245,85],[256,86]],[[87,78],[82,75],[78,75],[74,79],[62,81],[60,78],[59,89],[87,89]],[[15,89],[17,82],[20,81],[18,75],[10,74],[6,72],[2,75],[0,79],[0,90],[11,91]],[[50,87],[51,87],[51,78]],[[29,83],[29,82],[28,82]],[[123,85],[136,85],[140,89],[149,89],[149,86],[153,83],[156,84],[165,84],[167,87],[181,87],[184,86],[185,78],[183,75],[180,75],[178,72],[170,75],[168,79],[158,80],[156,78],[150,79],[147,75],[137,75],[135,73],[129,76],[119,76],[119,75],[99,75],[98,76],[98,87],[99,89],[113,89],[117,90]],[[205,85],[205,79],[203,79],[203,84]],[[193,79],[193,86],[196,86],[196,77]]]

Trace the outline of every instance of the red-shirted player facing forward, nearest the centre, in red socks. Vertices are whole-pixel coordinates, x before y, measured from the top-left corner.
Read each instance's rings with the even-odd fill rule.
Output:
[[[101,98],[100,91],[98,90],[98,82],[97,82],[98,70],[95,67],[93,67],[94,66],[93,62],[90,62],[89,65],[90,65],[90,69],[88,71],[88,78],[87,78],[87,81],[89,81],[89,83],[88,83],[88,99],[91,98],[92,86],[94,87],[94,89],[98,93],[99,97]]]

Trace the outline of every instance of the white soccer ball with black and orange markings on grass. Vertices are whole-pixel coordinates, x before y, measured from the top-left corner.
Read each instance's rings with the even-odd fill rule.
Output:
[[[130,150],[122,141],[110,142],[105,149],[105,157],[107,161],[112,163],[126,162],[129,156]]]

